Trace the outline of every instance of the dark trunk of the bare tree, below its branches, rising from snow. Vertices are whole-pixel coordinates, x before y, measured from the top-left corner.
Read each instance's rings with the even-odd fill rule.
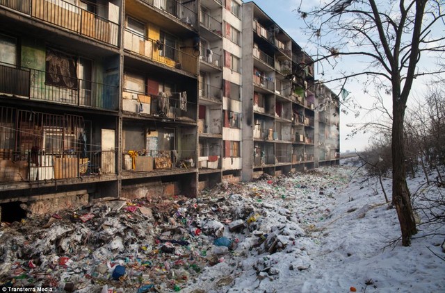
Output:
[[[405,153],[403,151],[403,118],[405,103],[393,101],[392,124],[392,203],[401,225],[402,245],[410,246],[411,236],[417,233],[411,205],[411,194],[406,183]]]

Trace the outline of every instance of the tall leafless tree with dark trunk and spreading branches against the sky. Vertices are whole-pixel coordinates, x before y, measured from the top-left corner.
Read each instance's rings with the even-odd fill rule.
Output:
[[[318,45],[326,49],[315,62],[334,65],[338,58],[365,58],[369,67],[346,70],[340,78],[369,76],[391,96],[392,201],[401,226],[402,244],[417,233],[406,183],[403,122],[415,78],[440,74],[444,68],[421,68],[431,54],[445,51],[445,0],[327,0],[310,12],[300,11]],[[439,33],[437,32],[439,26]],[[319,40],[327,39],[321,44]]]

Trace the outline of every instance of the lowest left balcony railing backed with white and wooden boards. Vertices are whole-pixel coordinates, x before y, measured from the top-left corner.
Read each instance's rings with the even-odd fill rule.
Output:
[[[53,181],[115,174],[115,151],[13,151],[0,183]]]

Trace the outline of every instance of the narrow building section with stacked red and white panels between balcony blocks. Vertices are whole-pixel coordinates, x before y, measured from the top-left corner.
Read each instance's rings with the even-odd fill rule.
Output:
[[[200,4],[199,190],[241,178],[241,5]]]

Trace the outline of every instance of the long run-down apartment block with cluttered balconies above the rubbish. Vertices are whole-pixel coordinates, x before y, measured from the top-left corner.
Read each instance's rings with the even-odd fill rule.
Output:
[[[197,196],[338,151],[338,103],[316,111],[311,59],[253,2],[0,0],[0,25],[3,210]]]

